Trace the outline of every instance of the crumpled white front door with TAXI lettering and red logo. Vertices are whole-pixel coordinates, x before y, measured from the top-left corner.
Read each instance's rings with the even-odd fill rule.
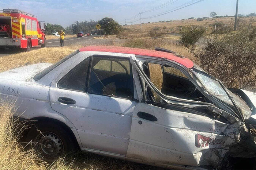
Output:
[[[131,62],[132,60],[135,59],[131,57]],[[135,62],[132,64],[142,77],[141,82],[144,81],[142,86],[145,89],[148,85],[153,90],[147,83],[150,80],[140,73],[142,67],[139,68],[139,63]],[[199,103],[192,107],[185,101],[179,104],[165,104],[148,101],[147,98],[144,100],[145,102],[138,103],[133,111],[127,151],[129,158],[151,163],[191,166],[198,166],[210,160],[217,166],[227,151],[222,148],[237,142],[239,121],[211,104],[207,106]],[[206,108],[226,115],[229,122],[225,119],[214,119]]]

